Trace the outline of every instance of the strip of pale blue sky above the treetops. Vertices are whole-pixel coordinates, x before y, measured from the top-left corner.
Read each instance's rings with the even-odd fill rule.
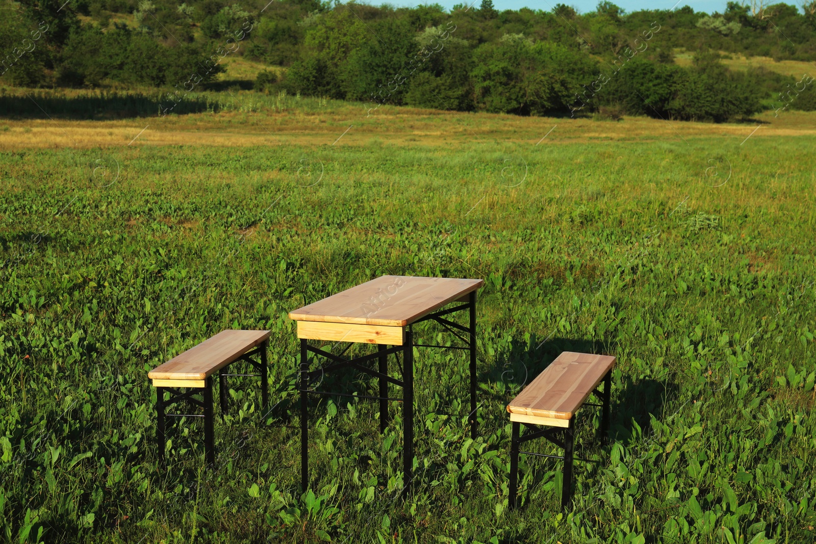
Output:
[[[468,3],[472,2],[473,0],[437,0],[436,3],[441,4],[442,6],[450,9],[455,4],[459,3]],[[784,0],[783,0],[784,1]],[[428,2],[422,2],[420,0],[391,0],[387,3],[390,3],[394,6],[417,6],[419,4],[424,3],[434,3],[432,0]],[[494,7],[501,11],[501,10],[517,10],[520,7],[530,7],[533,9],[541,9],[544,11],[549,11],[552,9],[553,6],[557,2],[565,3],[568,6],[573,6],[578,8],[581,13],[586,13],[587,11],[595,11],[595,7],[598,5],[598,0],[493,0]],[[667,10],[674,6],[674,2],[676,0],[620,0],[619,2],[613,2],[614,4],[622,7],[626,11],[640,11],[645,9],[662,9]],[[377,0],[369,0],[369,3],[377,5]],[[714,11],[719,11],[722,13],[725,11],[725,4],[727,0],[681,0],[681,2],[677,5],[677,7],[683,6],[690,6],[694,8],[694,11],[705,11],[707,13],[713,13]],[[795,4],[792,0],[787,0],[787,3]],[[481,0],[476,0],[476,4],[474,7],[479,7],[481,4]]]

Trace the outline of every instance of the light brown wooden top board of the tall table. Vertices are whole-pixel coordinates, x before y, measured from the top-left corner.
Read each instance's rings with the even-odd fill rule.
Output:
[[[295,321],[404,327],[447,303],[462,299],[484,280],[380,276],[289,312]]]

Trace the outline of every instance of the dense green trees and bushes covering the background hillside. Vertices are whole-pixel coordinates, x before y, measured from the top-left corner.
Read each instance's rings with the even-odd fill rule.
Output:
[[[243,56],[260,91],[519,115],[641,114],[722,122],[814,109],[810,74],[730,70],[722,55],[816,59],[816,0],[626,13],[497,11],[491,0],[374,7],[319,0],[20,0],[0,18],[13,86],[206,88]],[[34,39],[34,37],[37,39]],[[674,51],[696,51],[690,66]],[[794,91],[795,90],[795,91]],[[791,91],[794,91],[792,94]]]

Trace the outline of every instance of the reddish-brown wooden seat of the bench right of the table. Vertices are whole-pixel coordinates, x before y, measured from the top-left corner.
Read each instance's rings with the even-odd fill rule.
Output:
[[[569,427],[570,418],[595,391],[615,358],[563,352],[510,401],[510,421]]]

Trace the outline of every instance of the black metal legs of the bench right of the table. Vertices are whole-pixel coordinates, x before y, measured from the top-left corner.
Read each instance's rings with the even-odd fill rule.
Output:
[[[603,378],[604,390],[598,391],[597,387],[592,394],[600,398],[602,404],[596,405],[584,402],[583,406],[596,406],[601,408],[601,427],[598,429],[598,440],[601,444],[605,444],[610,430],[610,396],[612,392],[612,369],[609,369]],[[579,409],[581,408],[579,407]],[[578,410],[576,410],[576,413]],[[519,436],[521,433],[521,423],[512,422],[512,438],[510,440],[510,497],[509,503],[511,508],[517,506],[517,488],[518,488],[518,455],[524,453],[525,455],[534,455],[536,457],[563,459],[564,471],[563,479],[561,480],[561,507],[566,508],[572,502],[572,464],[574,460],[583,462],[593,462],[590,459],[574,458],[574,439],[575,439],[575,414],[570,418],[569,427],[548,427],[546,429],[539,429],[539,426],[533,423],[524,423],[526,427],[530,428],[525,436]],[[557,438],[561,435],[561,440]],[[556,444],[559,448],[564,450],[564,455],[547,455],[545,453],[534,453],[523,451],[519,449],[519,445],[528,440],[536,438],[545,438]]]

